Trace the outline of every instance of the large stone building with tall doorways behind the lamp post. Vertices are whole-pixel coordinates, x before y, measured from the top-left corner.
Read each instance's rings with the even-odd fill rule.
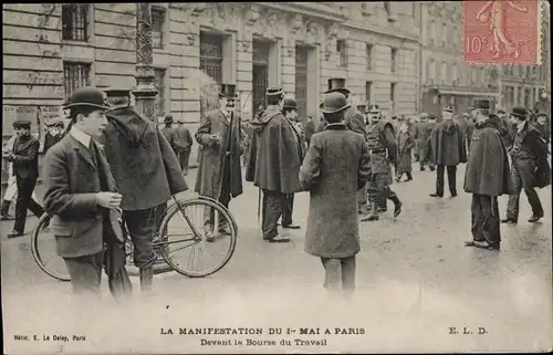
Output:
[[[184,119],[194,134],[207,73],[219,84],[237,84],[244,119],[264,103],[269,85],[295,95],[302,118],[316,116],[333,77],[345,79],[358,103],[414,114],[419,108],[418,7],[153,3],[156,112]],[[75,87],[134,86],[135,12],[134,3],[4,4],[3,101],[12,107],[4,132],[22,112],[38,122],[55,116]]]

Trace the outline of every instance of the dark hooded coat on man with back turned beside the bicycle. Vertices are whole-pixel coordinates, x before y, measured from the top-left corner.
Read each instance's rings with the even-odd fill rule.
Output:
[[[114,108],[106,116],[109,124],[98,140],[123,195],[123,210],[153,208],[188,190],[177,156],[154,122],[133,106]]]

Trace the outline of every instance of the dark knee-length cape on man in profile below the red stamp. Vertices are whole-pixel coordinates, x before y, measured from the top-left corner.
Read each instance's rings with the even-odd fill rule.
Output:
[[[465,191],[487,196],[511,195],[514,185],[499,119],[474,126],[465,173]]]

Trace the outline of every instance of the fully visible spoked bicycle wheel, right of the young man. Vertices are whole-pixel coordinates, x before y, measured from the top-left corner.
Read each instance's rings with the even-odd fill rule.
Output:
[[[158,236],[155,244],[169,267],[189,278],[204,278],[230,261],[238,226],[225,206],[200,197],[170,206]]]

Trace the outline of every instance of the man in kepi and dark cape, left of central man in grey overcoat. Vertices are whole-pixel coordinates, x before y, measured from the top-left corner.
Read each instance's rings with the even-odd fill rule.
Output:
[[[301,191],[299,171],[303,158],[301,139],[292,123],[282,114],[282,88],[267,90],[268,106],[263,114],[252,119],[253,137],[246,180],[263,192],[261,229],[263,240],[289,242],[279,236],[278,221],[282,216],[286,197]],[[282,220],[282,223],[286,223]]]

